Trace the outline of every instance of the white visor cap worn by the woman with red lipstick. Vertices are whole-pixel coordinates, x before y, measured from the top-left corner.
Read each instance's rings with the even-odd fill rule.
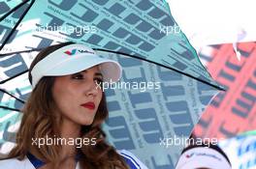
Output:
[[[32,86],[44,76],[62,76],[80,72],[99,65],[105,82],[115,82],[121,77],[121,66],[105,59],[83,44],[69,44],[48,54],[31,70]]]

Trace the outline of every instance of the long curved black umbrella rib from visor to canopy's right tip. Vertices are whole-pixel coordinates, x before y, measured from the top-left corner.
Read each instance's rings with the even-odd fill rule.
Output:
[[[179,73],[181,73],[181,74],[184,74],[184,75],[186,75],[186,76],[189,76],[189,77],[191,77],[191,78],[194,78],[194,79],[196,79],[196,80],[198,80],[198,81],[200,81],[200,82],[202,82],[202,83],[208,84],[209,86],[211,86],[211,87],[213,87],[213,88],[215,88],[215,89],[217,89],[217,90],[226,91],[225,89],[223,89],[223,88],[221,88],[221,87],[219,87],[219,86],[216,86],[216,85],[214,85],[214,84],[211,84],[211,83],[209,83],[208,81],[202,80],[202,79],[200,79],[200,78],[194,77],[193,75],[191,75],[191,74],[189,74],[189,73],[183,72],[183,71],[181,71],[181,70],[176,70],[176,69],[174,69],[174,68],[172,68],[172,67],[168,67],[168,66],[165,66],[165,65],[163,65],[163,64],[159,64],[159,63],[156,63],[156,62],[154,62],[154,61],[150,61],[150,60],[141,58],[141,57],[139,57],[139,56],[130,55],[130,54],[123,53],[123,52],[119,52],[119,51],[112,51],[112,50],[108,50],[108,49],[102,49],[102,48],[93,48],[93,49],[94,49],[94,50],[99,50],[99,51],[106,51],[106,52],[112,52],[112,53],[116,53],[116,54],[121,54],[121,55],[129,56],[129,57],[132,57],[132,58],[136,58],[136,59],[143,60],[143,61],[145,61],[145,62],[149,62],[149,63],[151,63],[151,64],[155,64],[155,65],[160,66],[160,67],[164,67],[164,68],[169,69],[169,70],[175,70],[176,72],[179,72]]]

